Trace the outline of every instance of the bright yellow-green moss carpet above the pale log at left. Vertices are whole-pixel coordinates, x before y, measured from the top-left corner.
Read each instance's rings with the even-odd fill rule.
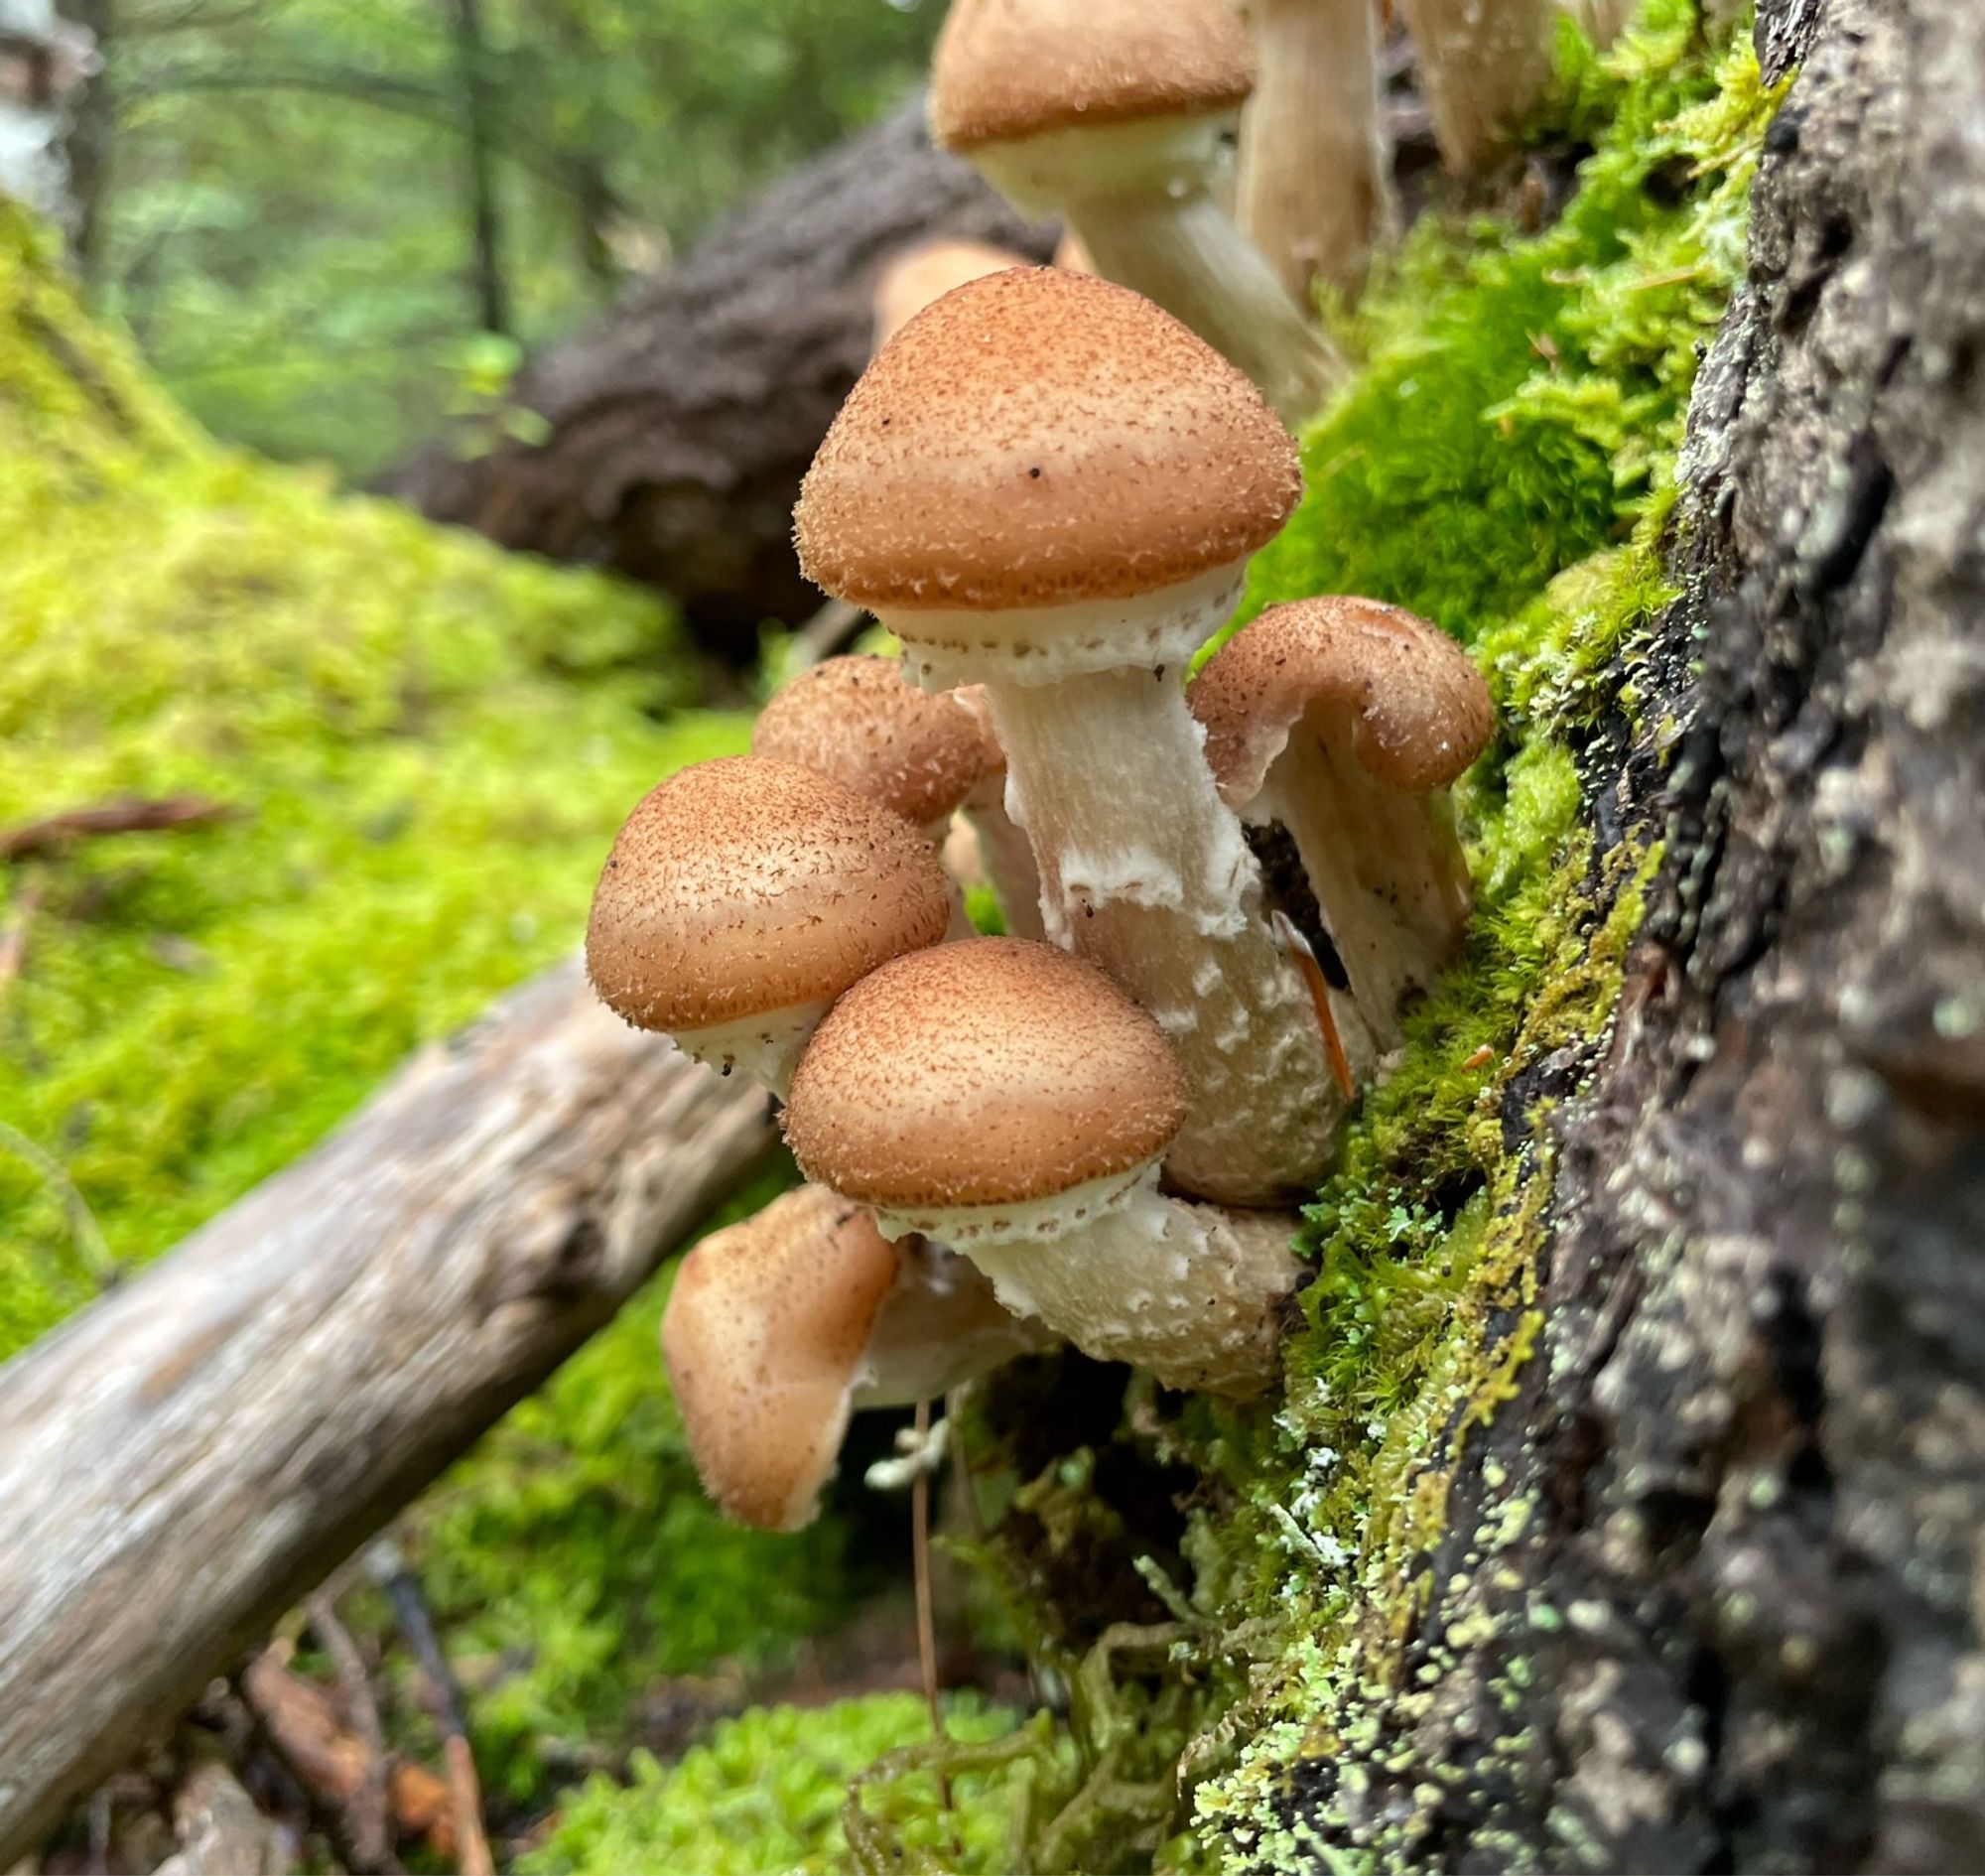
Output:
[[[667,768],[653,600],[216,449],[0,208],[0,828],[202,796],[210,828],[0,868],[0,1122],[145,1259],[576,941]],[[93,1292],[0,1136],[0,1354]]]

